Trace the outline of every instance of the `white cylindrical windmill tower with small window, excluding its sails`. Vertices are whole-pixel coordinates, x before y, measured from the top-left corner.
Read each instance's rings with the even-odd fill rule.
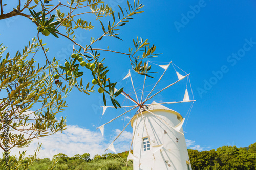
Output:
[[[183,129],[181,128],[181,133],[179,133],[172,128],[182,121],[182,116],[156,102],[152,104],[147,110],[158,117],[144,110],[142,112],[143,118],[139,113],[131,121],[134,132],[134,169],[190,170],[191,165],[185,137],[182,134]]]

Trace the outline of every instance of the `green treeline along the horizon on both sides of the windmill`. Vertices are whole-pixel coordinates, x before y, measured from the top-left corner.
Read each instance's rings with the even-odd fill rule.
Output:
[[[217,150],[198,151],[188,149],[188,154],[193,170],[254,170],[256,169],[256,143],[246,148],[220,147]],[[31,170],[127,170],[133,169],[133,162],[129,160],[126,166],[128,152],[118,154],[95,155],[92,159],[90,154],[75,155],[68,157],[59,153],[49,158],[36,159],[30,167]],[[54,160],[58,160],[54,164]],[[26,162],[26,159],[24,160]]]

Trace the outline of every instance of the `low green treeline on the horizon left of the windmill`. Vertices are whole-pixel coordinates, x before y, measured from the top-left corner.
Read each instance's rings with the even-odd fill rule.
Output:
[[[52,161],[49,158],[36,159],[30,170],[131,170],[133,169],[133,162],[128,161],[126,166],[128,152],[118,154],[103,154],[95,155],[90,159],[90,154],[84,153],[82,155],[75,155],[68,157],[65,154],[59,153],[54,155]],[[54,161],[58,160],[56,164]],[[25,163],[26,159],[24,160]],[[21,169],[20,169],[21,170]]]

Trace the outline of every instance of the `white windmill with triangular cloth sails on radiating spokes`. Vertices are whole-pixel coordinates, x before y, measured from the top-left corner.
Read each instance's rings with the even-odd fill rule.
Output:
[[[166,70],[172,64],[178,80],[168,84],[166,87],[161,88],[156,93],[152,94],[158,83],[161,81]],[[156,64],[158,65],[158,64]],[[177,67],[172,62],[169,62],[167,65],[158,65],[164,69],[163,74],[160,76],[158,81],[155,83],[154,87],[147,94],[146,98],[143,99],[146,76],[144,77],[143,88],[141,93],[141,98],[138,98],[136,93],[134,82],[132,79],[131,72],[129,70],[128,74],[123,78],[130,78],[135,98],[132,98],[129,94],[126,94],[124,91],[121,93],[126,99],[134,103],[134,105],[122,106],[122,108],[130,108],[119,116],[113,118],[109,122],[99,126],[102,135],[104,135],[104,126],[118,119],[119,117],[125,115],[128,112],[133,111],[134,115],[130,119],[129,123],[123,128],[123,130],[117,135],[114,141],[109,145],[106,150],[111,150],[116,152],[114,148],[114,142],[126,129],[126,127],[131,124],[133,128],[133,137],[129,149],[128,160],[133,160],[134,169],[191,169],[184,132],[182,125],[184,124],[185,118],[181,116],[178,112],[169,109],[162,104],[175,104],[175,103],[184,103],[184,102],[195,102],[193,91],[191,89],[191,94],[193,100],[189,99],[187,85],[190,84],[189,74],[180,74],[175,67]],[[177,67],[179,68],[179,67]],[[180,69],[180,68],[179,68]],[[181,70],[181,69],[180,69]],[[183,76],[184,75],[184,76]],[[180,82],[181,80],[187,78],[186,89],[182,101],[172,101],[172,102],[152,102],[148,103],[149,100],[152,100],[154,96],[158,95],[162,91],[168,89],[174,84]],[[191,87],[191,84],[190,84]],[[117,89],[115,89],[117,91]],[[151,95],[152,94],[152,95]],[[102,106],[104,115],[107,108],[113,108],[113,106]],[[193,104],[189,108],[191,108]],[[136,109],[136,110],[135,110]],[[98,129],[97,128],[97,129]],[[133,154],[131,149],[133,146]]]

